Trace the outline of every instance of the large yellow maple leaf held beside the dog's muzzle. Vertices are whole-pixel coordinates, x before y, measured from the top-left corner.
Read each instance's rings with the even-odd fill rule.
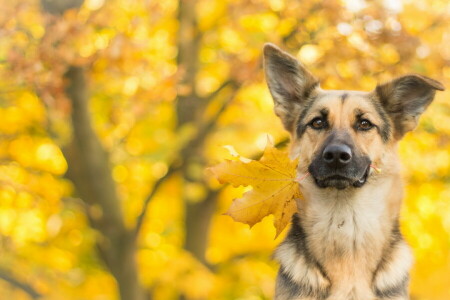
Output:
[[[296,199],[301,197],[297,163],[268,143],[260,160],[227,160],[209,171],[220,183],[251,186],[253,189],[235,199],[225,214],[250,227],[272,214],[276,238],[297,211]]]

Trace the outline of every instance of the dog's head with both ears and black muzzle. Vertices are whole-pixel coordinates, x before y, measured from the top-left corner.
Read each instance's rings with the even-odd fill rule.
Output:
[[[291,156],[299,157],[299,170],[307,170],[320,188],[362,187],[371,164],[383,167],[436,90],[444,90],[420,75],[371,92],[323,90],[301,63],[272,44],[264,47],[264,67],[275,113],[291,134]]]

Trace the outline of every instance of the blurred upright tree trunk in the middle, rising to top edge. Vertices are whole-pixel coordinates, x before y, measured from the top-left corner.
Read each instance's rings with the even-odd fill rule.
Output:
[[[179,82],[177,102],[178,128],[188,123],[201,126],[199,116],[204,109],[204,102],[195,91],[195,78],[199,68],[198,51],[201,36],[198,32],[195,16],[194,0],[180,0],[178,7],[178,67],[183,77]],[[185,183],[201,182],[196,174],[191,174],[191,165],[205,165],[201,146],[206,135],[212,128],[207,128],[200,139],[194,141],[188,148],[182,151],[183,178]],[[205,188],[207,188],[205,186]],[[208,245],[208,234],[212,215],[215,208],[215,194],[200,202],[191,203],[184,199],[185,203],[185,243],[184,248],[191,252],[198,260],[205,262],[205,252]]]

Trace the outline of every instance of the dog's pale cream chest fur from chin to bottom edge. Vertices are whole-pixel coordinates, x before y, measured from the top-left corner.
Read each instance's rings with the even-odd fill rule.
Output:
[[[391,186],[385,180],[350,191],[304,192],[301,223],[332,282],[330,299],[373,298],[373,274],[391,230],[385,200]]]

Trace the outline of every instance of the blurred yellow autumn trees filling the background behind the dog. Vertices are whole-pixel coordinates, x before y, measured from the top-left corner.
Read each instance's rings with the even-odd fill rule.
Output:
[[[271,217],[204,169],[285,147],[261,50],[328,89],[421,73],[450,87],[450,4],[20,0],[0,11],[0,299],[271,299]],[[450,299],[450,102],[400,145],[414,300]],[[285,230],[286,231],[286,230]]]

